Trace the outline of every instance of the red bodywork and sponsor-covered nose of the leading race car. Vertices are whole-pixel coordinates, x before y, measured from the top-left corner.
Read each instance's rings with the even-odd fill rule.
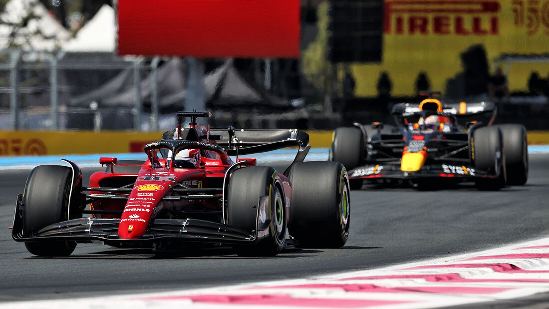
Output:
[[[196,130],[197,136],[204,136],[204,132],[200,132],[194,126],[191,127],[191,130]],[[206,132],[206,136],[209,136],[209,132]],[[204,138],[200,138],[200,140],[200,142],[215,144],[215,141],[208,141]],[[150,156],[151,153],[148,155],[149,159],[143,163],[138,174],[117,173],[116,168],[113,168],[113,166],[128,165],[117,165],[116,160],[102,158],[101,161],[108,162],[107,170],[93,173],[89,178],[89,186],[92,188],[122,187],[135,182],[129,194],[120,193],[120,195],[127,196],[127,200],[99,199],[90,204],[91,210],[122,211],[121,216],[98,215],[102,218],[120,218],[118,234],[121,239],[139,239],[147,232],[149,223],[155,217],[166,217],[164,215],[169,212],[169,209],[177,209],[178,211],[185,211],[186,209],[204,212],[216,211],[217,213],[222,210],[222,206],[217,199],[172,201],[165,200],[165,198],[166,196],[180,195],[172,190],[180,184],[187,188],[197,189],[223,187],[223,179],[225,179],[227,169],[234,164],[226,154],[220,155],[214,153],[214,151],[201,150],[201,161],[198,168],[173,167],[173,161],[166,166],[166,159],[158,159],[155,155]],[[160,167],[154,168],[151,160],[153,160],[153,163],[156,161],[156,164],[159,164],[156,166]],[[237,162],[239,161],[242,162],[242,165],[237,168],[256,165],[256,159],[237,159]],[[287,177],[282,174],[279,174],[279,176],[282,182],[285,205],[289,207],[292,187]],[[245,190],[245,188],[243,189]],[[89,193],[102,194],[104,192],[90,190]],[[217,195],[219,195],[219,198],[222,196],[222,194]],[[288,222],[289,211],[286,214],[286,221]]]

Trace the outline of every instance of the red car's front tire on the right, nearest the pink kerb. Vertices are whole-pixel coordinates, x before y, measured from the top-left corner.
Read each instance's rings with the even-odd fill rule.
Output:
[[[275,256],[286,239],[287,210],[282,182],[275,168],[239,168],[229,178],[227,191],[228,224],[256,233],[259,198],[268,196],[268,235],[253,245],[234,245],[239,256]],[[254,232],[253,232],[254,231]]]

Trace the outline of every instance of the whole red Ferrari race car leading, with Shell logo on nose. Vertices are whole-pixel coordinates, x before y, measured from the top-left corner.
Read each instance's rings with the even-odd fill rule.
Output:
[[[147,161],[100,158],[106,170],[89,187],[74,162],[35,167],[17,196],[13,239],[38,256],[68,256],[92,241],[160,251],[230,245],[242,256],[274,256],[285,243],[345,244],[347,172],[339,162],[303,162],[307,133],[210,130],[196,122],[208,112],[177,116],[177,128],[144,147]],[[190,127],[181,127],[183,117]],[[284,173],[239,157],[285,147],[298,151]]]

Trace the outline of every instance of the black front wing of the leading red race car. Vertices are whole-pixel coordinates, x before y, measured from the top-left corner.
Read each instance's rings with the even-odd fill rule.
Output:
[[[18,195],[17,204],[20,205]],[[19,207],[15,209],[12,238],[15,241],[67,241],[78,243],[102,241],[107,245],[127,244],[132,246],[153,246],[154,243],[222,243],[254,244],[268,236],[270,219],[268,213],[268,196],[261,196],[257,207],[257,224],[255,231],[245,231],[229,224],[198,219],[154,219],[149,224],[148,232],[137,239],[121,239],[118,234],[119,218],[102,219],[83,217],[50,224],[32,235],[23,235],[23,216]]]

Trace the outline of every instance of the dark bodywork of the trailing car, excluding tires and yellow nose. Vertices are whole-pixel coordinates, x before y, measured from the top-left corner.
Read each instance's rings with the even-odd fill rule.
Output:
[[[477,128],[494,121],[496,108],[489,103],[469,103],[472,111],[457,113],[459,105],[444,106],[444,111],[421,111],[417,104],[396,104],[392,114],[395,125],[374,122],[371,126],[354,123],[362,132],[361,166],[349,170],[350,179],[418,179],[453,178],[456,181],[477,177],[496,177],[494,171],[474,167],[471,137]],[[446,117],[448,130],[424,130],[413,127],[420,117]],[[370,127],[370,130],[368,130]],[[372,130],[373,129],[373,130]],[[368,136],[368,133],[371,133]],[[423,150],[427,153],[421,170],[402,171],[404,152]]]

